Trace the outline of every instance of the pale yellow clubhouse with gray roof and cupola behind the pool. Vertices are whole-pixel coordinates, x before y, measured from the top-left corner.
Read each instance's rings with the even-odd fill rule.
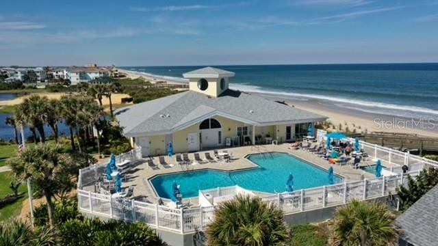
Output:
[[[143,156],[296,141],[326,117],[229,89],[234,72],[186,72],[190,90],[116,111],[123,133]]]

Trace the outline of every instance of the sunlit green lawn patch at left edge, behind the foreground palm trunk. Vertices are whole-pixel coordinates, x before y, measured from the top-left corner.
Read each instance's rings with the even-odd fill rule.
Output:
[[[5,197],[6,195],[12,194],[12,190],[9,188],[9,183],[13,177],[14,175],[12,172],[0,173],[0,197]],[[20,215],[23,201],[27,199],[27,184],[25,182],[20,185],[18,192],[24,193],[23,197],[16,200],[12,204],[8,204],[3,208],[0,208],[0,221],[5,221],[11,217]]]

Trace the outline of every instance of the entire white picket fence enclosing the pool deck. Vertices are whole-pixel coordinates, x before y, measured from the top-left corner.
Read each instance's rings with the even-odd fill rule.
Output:
[[[392,176],[302,189],[292,193],[277,193],[261,197],[261,200],[278,206],[286,214],[338,206],[346,204],[353,199],[368,200],[394,194],[400,184],[407,185],[407,177],[409,175],[417,176],[423,167],[438,167],[438,163],[435,161],[422,159],[417,156],[409,156],[402,152],[374,146],[370,143],[361,142],[361,145],[363,148],[368,148],[365,151],[374,150],[376,158],[383,159],[387,156],[389,163],[397,158],[402,158],[402,163],[405,163],[404,161],[408,161],[409,165],[412,163],[411,168],[415,167],[415,170],[403,174],[402,169],[393,169],[396,174]],[[394,156],[398,157],[394,158]],[[133,163],[141,159],[141,149],[132,150],[129,153],[117,156],[117,158],[118,160],[129,159]],[[95,182],[105,172],[105,166],[106,163],[96,164],[92,167],[81,169],[79,172],[77,197],[79,210],[83,213],[124,221],[141,221],[153,228],[163,228],[178,233],[204,230],[214,219],[215,206],[169,208],[168,206],[159,206],[157,204],[124,198],[112,199],[111,195],[84,191],[82,189],[83,186]],[[215,197],[231,195],[236,192],[235,189],[235,187],[224,187],[211,189],[208,193]]]

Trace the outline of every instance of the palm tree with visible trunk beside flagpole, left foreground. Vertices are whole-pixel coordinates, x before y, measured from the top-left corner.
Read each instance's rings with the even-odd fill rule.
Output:
[[[62,151],[62,146],[39,143],[25,148],[18,158],[10,159],[8,163],[19,178],[31,178],[34,187],[45,197],[51,228],[55,227],[52,197],[64,187],[71,186],[71,180],[66,175],[75,165],[70,156]]]

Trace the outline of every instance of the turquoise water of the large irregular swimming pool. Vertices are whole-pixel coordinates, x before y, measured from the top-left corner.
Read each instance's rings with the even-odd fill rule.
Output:
[[[329,184],[329,173],[315,165],[301,161],[286,153],[248,156],[259,168],[235,172],[195,171],[160,175],[151,180],[159,197],[172,197],[172,182],[181,186],[183,198],[197,197],[198,190],[229,187],[235,184],[245,189],[268,193],[283,192],[289,173],[294,175],[294,190],[320,187]],[[218,163],[220,165],[220,163]],[[342,178],[335,176],[335,183]]]

